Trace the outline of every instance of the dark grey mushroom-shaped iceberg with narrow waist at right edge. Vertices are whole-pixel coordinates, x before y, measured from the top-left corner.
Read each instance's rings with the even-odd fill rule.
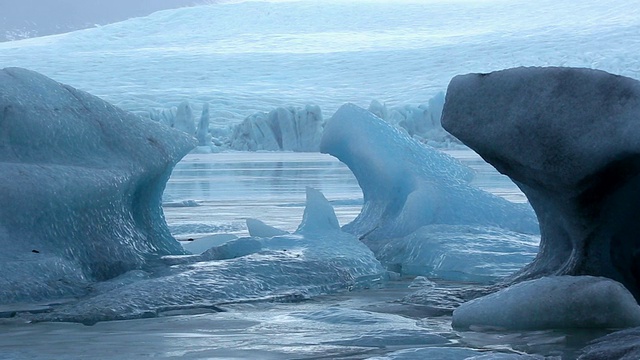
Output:
[[[605,276],[640,299],[640,82],[576,68],[458,76],[443,125],[535,209],[540,252],[520,279]]]

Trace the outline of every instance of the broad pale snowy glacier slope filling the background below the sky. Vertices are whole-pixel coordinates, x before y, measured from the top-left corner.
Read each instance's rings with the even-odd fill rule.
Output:
[[[635,0],[240,2],[3,43],[0,67],[127,110],[207,101],[233,122],[282,105],[424,103],[454,75],[514,66],[640,78],[638,48]]]

